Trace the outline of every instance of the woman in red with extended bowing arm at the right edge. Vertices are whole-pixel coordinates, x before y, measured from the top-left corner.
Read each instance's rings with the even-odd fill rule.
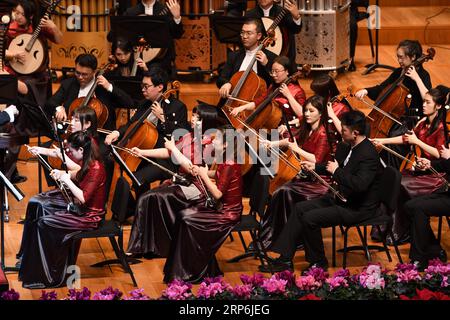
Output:
[[[417,148],[420,149],[422,158],[428,160],[440,158],[440,152],[442,147],[445,147],[447,140],[446,109],[444,107],[446,94],[437,88],[431,89],[425,94],[423,102],[425,117],[417,123],[413,131],[402,136],[373,139],[373,142],[383,145],[409,144],[414,152]],[[433,193],[439,190],[443,184],[443,180],[430,171],[414,170],[414,167],[411,170],[403,170],[399,206],[393,215],[394,224],[392,226],[395,240],[398,243],[409,240],[409,220],[403,210],[403,204],[411,198]],[[379,240],[380,235],[374,231],[372,238]],[[392,242],[392,240],[388,238],[388,242]]]

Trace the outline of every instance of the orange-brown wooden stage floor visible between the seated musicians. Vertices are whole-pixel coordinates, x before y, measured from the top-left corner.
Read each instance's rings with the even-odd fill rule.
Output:
[[[371,63],[372,59],[370,57],[370,50],[367,46],[358,46],[356,52],[356,63],[358,70],[353,73],[344,73],[338,75],[337,83],[341,90],[344,90],[350,84],[356,88],[366,87],[374,85],[384,80],[388,75],[388,70],[379,69],[376,72],[362,76],[361,72],[364,70],[364,65]],[[448,74],[450,74],[450,51],[444,49],[437,49],[436,58],[432,62],[426,64],[426,69],[431,73],[431,78],[433,85],[444,84],[449,86],[450,82],[448,80]],[[396,66],[395,59],[395,46],[382,46],[380,47],[380,62],[384,64],[390,64]],[[309,84],[311,79],[302,80],[302,84],[307,91],[307,95],[310,95]],[[191,109],[195,104],[195,98],[197,97],[210,97],[213,102],[217,100],[215,96],[216,88],[213,84],[198,84],[198,83],[186,83],[183,84],[181,98],[184,100],[188,107]],[[208,98],[209,99],[209,98]],[[356,107],[356,103],[354,105]],[[367,110],[365,110],[367,111]],[[37,183],[37,163],[32,159],[21,160],[18,163],[19,172],[22,175],[28,177],[26,183],[20,184],[19,187],[26,194],[26,198],[17,203],[12,196],[10,199],[10,217],[11,221],[6,224],[5,228],[5,239],[6,239],[6,265],[12,266],[15,264],[15,254],[19,249],[20,240],[22,236],[23,225],[18,224],[19,218],[24,214],[27,202],[31,196],[37,193],[38,183]],[[245,199],[245,212],[248,210],[248,200]],[[437,229],[437,220],[432,219],[433,227]],[[125,247],[128,242],[129,233],[131,226],[125,227]],[[325,250],[328,259],[331,263],[331,229],[324,229],[324,242]],[[246,238],[249,237],[246,235]],[[349,237],[349,244],[357,244],[358,237],[356,232],[351,232]],[[443,225],[443,244],[447,252],[450,253],[450,236],[448,232],[448,226],[444,223]],[[343,239],[338,232],[337,246],[341,247],[343,244]],[[404,261],[408,261],[408,251],[409,245],[403,245],[400,247],[400,251]],[[222,271],[225,273],[225,279],[232,284],[240,283],[239,275],[242,273],[252,274],[257,272],[258,261],[254,259],[246,259],[239,263],[230,264],[226,260],[242,253],[242,248],[239,243],[237,235],[235,236],[235,241],[231,242],[229,239],[223,244],[221,249],[217,254],[217,259]],[[374,262],[379,262],[385,267],[393,268],[397,263],[395,258],[395,253],[391,250],[394,261],[389,263],[387,261],[385,253],[373,253],[372,259]],[[85,240],[82,243],[80,254],[78,257],[78,265],[81,268],[81,287],[86,286],[92,292],[99,291],[105,287],[112,286],[118,288],[121,291],[127,293],[133,289],[131,279],[128,274],[124,273],[119,265],[112,265],[110,267],[103,268],[92,268],[91,264],[104,260],[105,256],[107,258],[115,258],[114,252],[110,246],[107,239],[98,240]],[[195,257],[192,257],[195,259]],[[154,259],[154,260],[142,260],[141,264],[133,265],[132,269],[134,271],[138,286],[143,288],[145,292],[153,298],[159,297],[162,290],[166,287],[162,282],[163,279],[163,266],[164,259]],[[304,252],[299,251],[295,257],[295,270],[298,273],[302,268],[306,266],[304,260]],[[342,265],[341,254],[337,255],[338,266]],[[362,269],[367,265],[367,261],[361,253],[350,253],[348,255],[348,266],[351,272],[356,272],[356,270]],[[330,272],[333,273],[337,269],[330,268]],[[21,283],[17,279],[17,273],[7,274],[10,287],[14,288],[21,295],[22,299],[37,299],[41,295],[40,290],[28,290],[23,289]],[[194,291],[197,286],[194,286]],[[67,293],[67,288],[60,288],[56,290],[59,297],[63,297]]]

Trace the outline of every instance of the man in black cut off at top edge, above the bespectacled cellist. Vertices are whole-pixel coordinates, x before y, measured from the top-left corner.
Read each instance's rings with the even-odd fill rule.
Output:
[[[289,45],[289,51],[285,54],[293,65],[295,65],[295,56],[297,54],[295,34],[302,29],[302,18],[296,2],[294,0],[284,1],[284,6],[288,12],[279,24],[279,27],[287,33],[287,37],[283,36],[283,42],[287,42]],[[258,0],[258,5],[254,9],[247,11],[245,16],[249,18],[276,18],[282,10],[283,7],[275,4],[274,0]]]

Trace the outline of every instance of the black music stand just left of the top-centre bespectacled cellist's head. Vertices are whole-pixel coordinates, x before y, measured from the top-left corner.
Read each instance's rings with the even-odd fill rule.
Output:
[[[241,45],[242,25],[248,18],[210,15],[210,24],[214,34],[221,43]]]

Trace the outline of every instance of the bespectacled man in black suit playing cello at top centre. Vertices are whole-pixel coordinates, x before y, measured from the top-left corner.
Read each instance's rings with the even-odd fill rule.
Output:
[[[243,49],[231,52],[227,61],[217,78],[216,85],[219,88],[219,95],[226,98],[232,91],[230,83],[231,77],[239,71],[245,71],[250,60],[256,55],[256,64],[253,65],[253,71],[264,79],[267,86],[271,83],[272,77],[270,70],[276,55],[269,50],[263,49],[257,51],[259,40],[262,38],[263,25],[260,20],[249,19],[242,25],[241,40]]]

